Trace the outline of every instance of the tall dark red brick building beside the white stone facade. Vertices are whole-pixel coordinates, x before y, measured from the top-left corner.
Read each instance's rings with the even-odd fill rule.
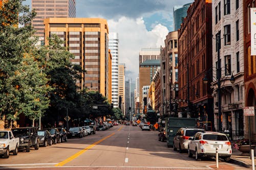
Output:
[[[196,0],[187,10],[187,17],[178,30],[179,111],[183,116],[198,117],[200,121],[214,122],[213,99],[210,84],[204,84],[205,75],[211,77],[212,36],[211,1]]]

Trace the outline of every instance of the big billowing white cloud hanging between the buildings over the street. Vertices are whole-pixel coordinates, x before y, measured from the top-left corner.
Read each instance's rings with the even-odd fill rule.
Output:
[[[126,78],[133,81],[139,74],[139,51],[143,47],[164,45],[168,29],[160,23],[152,31],[147,31],[143,18],[120,17],[108,20],[110,32],[117,32],[119,37],[119,63],[126,65]],[[129,74],[131,72],[131,74]]]

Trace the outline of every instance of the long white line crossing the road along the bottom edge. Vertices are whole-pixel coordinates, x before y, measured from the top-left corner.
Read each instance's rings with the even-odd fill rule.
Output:
[[[49,163],[47,163],[49,164]],[[2,166],[2,165],[1,165]],[[213,169],[211,167],[162,167],[162,166],[61,166],[61,167],[122,167],[122,168],[165,168],[165,169]],[[32,169],[36,169],[36,168],[59,168],[57,166],[38,166],[38,167],[33,167],[33,166],[30,166],[30,167],[0,167],[0,169],[23,169],[23,168],[32,168]]]

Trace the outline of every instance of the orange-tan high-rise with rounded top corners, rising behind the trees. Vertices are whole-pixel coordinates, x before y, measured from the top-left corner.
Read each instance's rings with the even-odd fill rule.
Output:
[[[81,89],[99,91],[111,101],[111,65],[109,51],[109,27],[101,18],[47,18],[45,23],[45,42],[48,37],[57,34],[69,46],[69,52],[87,73],[76,84]]]

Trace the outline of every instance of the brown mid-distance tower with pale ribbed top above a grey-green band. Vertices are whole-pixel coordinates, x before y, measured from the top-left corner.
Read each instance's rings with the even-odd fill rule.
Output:
[[[139,107],[143,109],[141,90],[143,86],[150,86],[153,77],[160,66],[160,48],[142,48],[139,53]],[[140,110],[140,113],[142,110]]]

